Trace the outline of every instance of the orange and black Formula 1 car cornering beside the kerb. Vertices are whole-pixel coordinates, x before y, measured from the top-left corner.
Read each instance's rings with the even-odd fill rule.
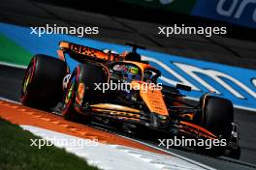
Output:
[[[23,78],[21,103],[51,110],[67,120],[83,115],[87,122],[97,120],[129,130],[145,128],[167,138],[225,139],[226,146],[214,147],[210,153],[239,158],[233,103],[212,93],[203,95],[196,104],[189,103],[180,92],[191,91],[190,87],[158,83],[161,71],[143,61],[137,51],[144,46],[128,45],[132,51],[118,54],[59,42],[58,58],[34,55]],[[78,63],[72,71],[68,58]]]

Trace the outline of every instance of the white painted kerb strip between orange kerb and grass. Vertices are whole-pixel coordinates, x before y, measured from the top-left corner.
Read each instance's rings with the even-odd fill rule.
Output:
[[[54,142],[54,145],[59,148],[65,148],[66,151],[83,157],[90,165],[95,165],[104,170],[213,170],[213,168],[207,165],[196,161],[188,161],[185,158],[180,158],[180,156],[173,154],[166,156],[121,145],[101,143],[98,143],[97,146],[81,146],[81,141],[88,139],[82,139],[44,128],[32,126],[21,127],[44,139],[73,141],[70,144],[69,142]]]

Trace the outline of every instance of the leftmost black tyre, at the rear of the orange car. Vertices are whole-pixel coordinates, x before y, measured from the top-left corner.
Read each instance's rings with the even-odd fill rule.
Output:
[[[36,54],[30,61],[22,82],[20,101],[34,108],[48,110],[63,97],[63,78],[67,64],[48,55]]]

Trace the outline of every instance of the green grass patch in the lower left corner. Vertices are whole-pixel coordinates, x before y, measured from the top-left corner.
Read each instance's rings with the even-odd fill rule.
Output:
[[[30,139],[39,139],[29,131],[0,119],[1,170],[96,170],[78,156],[64,149],[46,146],[41,150],[30,146]]]

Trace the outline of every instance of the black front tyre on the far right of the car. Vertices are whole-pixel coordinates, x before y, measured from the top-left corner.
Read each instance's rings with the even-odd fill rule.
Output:
[[[202,98],[203,99],[203,98]],[[203,111],[201,112],[200,125],[207,128],[211,133],[220,137],[220,146],[211,146],[211,148],[204,149],[202,147],[195,148],[199,152],[206,153],[211,156],[223,156],[228,145],[231,132],[232,123],[234,122],[234,107],[229,99],[222,99],[218,97],[206,96],[204,101],[201,100]],[[224,143],[225,140],[225,143]]]

